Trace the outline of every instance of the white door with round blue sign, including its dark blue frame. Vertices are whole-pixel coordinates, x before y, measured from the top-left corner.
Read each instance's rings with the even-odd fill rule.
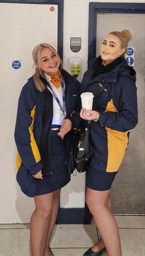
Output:
[[[20,192],[15,181],[14,127],[18,96],[27,79],[34,74],[34,46],[49,43],[58,49],[62,58],[63,1],[41,1],[41,4],[36,4],[40,1],[31,1],[31,4],[26,3],[28,1],[10,2],[0,2],[0,222],[28,223],[34,208],[33,201]]]

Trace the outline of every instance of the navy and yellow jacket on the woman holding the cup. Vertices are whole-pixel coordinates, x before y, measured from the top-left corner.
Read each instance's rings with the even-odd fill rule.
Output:
[[[138,122],[136,72],[125,59],[109,65],[118,63],[110,70],[108,65],[101,67],[100,61],[97,58],[90,62],[80,90],[95,95],[93,109],[100,113],[98,122],[92,121],[90,125],[96,155],[90,165],[102,171],[114,172],[122,163],[129,132]],[[98,69],[102,72],[98,72]],[[108,87],[98,98],[97,93],[105,83],[108,83]]]

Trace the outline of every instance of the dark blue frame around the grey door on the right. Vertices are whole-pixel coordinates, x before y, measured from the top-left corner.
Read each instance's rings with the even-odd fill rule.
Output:
[[[145,4],[90,2],[88,17],[88,60],[96,57],[96,22],[98,14],[145,14]]]

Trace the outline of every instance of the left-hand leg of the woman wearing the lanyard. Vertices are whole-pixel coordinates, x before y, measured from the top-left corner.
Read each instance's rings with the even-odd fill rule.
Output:
[[[32,256],[44,256],[48,227],[52,218],[53,192],[34,197],[36,209],[31,216],[30,244]]]

